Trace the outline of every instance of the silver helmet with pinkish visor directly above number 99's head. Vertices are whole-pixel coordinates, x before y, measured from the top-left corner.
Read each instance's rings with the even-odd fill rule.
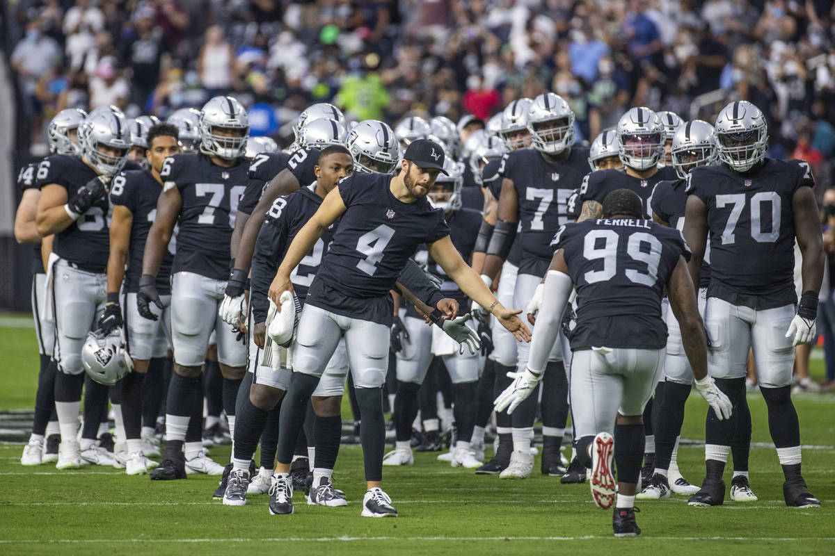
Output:
[[[664,157],[664,124],[649,108],[630,108],[620,117],[615,134],[620,160],[639,172],[657,165]]]

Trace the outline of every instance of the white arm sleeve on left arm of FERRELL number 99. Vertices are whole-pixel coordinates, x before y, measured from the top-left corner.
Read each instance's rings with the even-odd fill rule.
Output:
[[[545,275],[542,307],[539,308],[534,334],[530,340],[528,368],[534,373],[543,373],[548,364],[548,355],[557,341],[565,303],[568,303],[572,289],[568,274],[549,270]]]

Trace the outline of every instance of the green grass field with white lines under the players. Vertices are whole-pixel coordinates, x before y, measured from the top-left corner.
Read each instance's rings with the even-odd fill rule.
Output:
[[[7,319],[8,322],[8,319]],[[0,328],[0,409],[31,408],[38,358],[33,331]],[[815,361],[815,373],[822,373]],[[835,395],[797,396],[803,468],[822,508],[790,509],[770,446],[765,403],[749,396],[754,421],[751,486],[756,503],[726,501],[690,508],[683,497],[639,503],[639,538],[611,537],[611,513],[591,502],[587,485],[561,485],[534,475],[500,481],[452,469],[433,455],[416,454],[411,468],[387,468],[385,488],[397,519],[360,517],[362,450],[347,446],[334,480],[347,508],[310,507],[296,493],[296,513],[271,516],[266,496],[242,508],[211,499],[217,479],[192,476],[172,483],[127,477],[112,468],[59,472],[51,465],[23,468],[20,444],[0,444],[0,553],[183,554],[306,553],[734,553],[831,554],[835,548]],[[706,404],[691,397],[683,438],[703,438]],[[682,473],[696,482],[703,448],[683,445]],[[229,448],[213,448],[225,462]],[[730,481],[730,474],[726,476]]]

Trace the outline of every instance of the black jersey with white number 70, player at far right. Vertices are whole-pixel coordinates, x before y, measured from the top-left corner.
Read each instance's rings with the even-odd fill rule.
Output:
[[[765,158],[751,172],[700,166],[687,193],[707,208],[711,244],[708,297],[756,309],[797,303],[792,196],[814,187],[809,165]]]

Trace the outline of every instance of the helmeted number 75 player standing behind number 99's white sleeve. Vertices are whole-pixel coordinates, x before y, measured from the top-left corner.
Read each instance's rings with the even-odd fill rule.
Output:
[[[566,201],[579,188],[589,152],[574,147],[574,112],[559,95],[544,93],[534,99],[527,117],[533,148],[509,153],[498,168],[501,194],[498,220],[488,246],[483,273],[493,277],[508,257],[519,228],[519,274],[514,288],[514,305],[526,306],[544,277],[550,260],[549,238],[569,221]],[[524,370],[528,346],[519,344],[517,368]],[[562,349],[554,344],[550,370],[544,381],[543,474],[562,474],[562,447],[568,419],[568,378]],[[496,374],[506,374],[497,367]],[[525,403],[513,419],[514,450],[509,465],[499,478],[527,478],[534,468],[530,444],[534,439],[536,397]]]

